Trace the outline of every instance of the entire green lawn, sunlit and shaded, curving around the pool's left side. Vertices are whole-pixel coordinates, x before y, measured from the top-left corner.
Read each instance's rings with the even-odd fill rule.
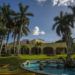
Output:
[[[29,73],[20,68],[20,64],[26,60],[45,60],[45,59],[57,59],[59,57],[66,57],[66,54],[47,56],[47,55],[19,55],[19,56],[9,56],[0,57],[0,64],[9,65],[7,67],[0,67],[0,74],[7,75],[34,75],[34,73]],[[75,55],[72,56],[75,58]]]

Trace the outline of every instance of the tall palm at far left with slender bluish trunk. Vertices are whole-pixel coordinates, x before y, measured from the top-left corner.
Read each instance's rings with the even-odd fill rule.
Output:
[[[3,6],[0,7],[1,8],[1,13],[3,15],[3,22],[7,28],[7,37],[6,37],[6,47],[7,47],[7,44],[8,44],[8,40],[9,40],[9,35],[11,34],[12,32],[12,29],[13,29],[13,20],[12,20],[12,16],[14,14],[14,11],[10,8],[10,5],[6,5],[5,3],[3,4]],[[6,49],[6,52],[7,52],[7,48]]]

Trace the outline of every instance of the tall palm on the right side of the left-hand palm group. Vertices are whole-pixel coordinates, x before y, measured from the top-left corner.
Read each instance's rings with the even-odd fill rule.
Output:
[[[16,21],[15,24],[16,25],[14,27],[14,37],[16,34],[17,44],[18,44],[18,52],[17,52],[18,54],[19,54],[19,50],[20,50],[20,38],[23,35],[28,35],[28,32],[30,32],[28,29],[30,19],[28,17],[33,16],[33,14],[27,12],[28,8],[29,8],[29,6],[23,5],[20,3],[19,4],[19,13],[17,13],[16,17],[15,17],[15,21]]]

